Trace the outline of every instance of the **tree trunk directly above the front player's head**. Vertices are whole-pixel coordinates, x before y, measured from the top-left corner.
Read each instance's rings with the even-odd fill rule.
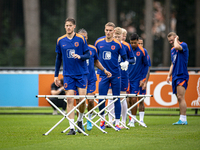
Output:
[[[76,20],[76,0],[67,0],[67,18],[72,17]]]

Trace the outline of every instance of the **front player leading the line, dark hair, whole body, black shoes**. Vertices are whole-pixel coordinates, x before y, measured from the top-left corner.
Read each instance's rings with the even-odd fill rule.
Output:
[[[54,82],[58,85],[58,74],[61,63],[63,61],[63,76],[64,76],[64,88],[66,95],[74,95],[74,91],[78,89],[80,95],[86,95],[87,74],[88,68],[86,59],[90,58],[90,52],[85,38],[74,32],[76,27],[75,20],[73,18],[67,18],[65,20],[66,34],[59,37],[56,43],[56,64]],[[80,98],[79,101],[82,101]],[[70,112],[74,107],[74,98],[67,98],[67,112]],[[78,126],[83,129],[82,119],[85,111],[85,102],[79,107]],[[74,122],[74,112],[69,114],[69,118]],[[69,122],[70,131],[68,135],[75,135],[74,125]],[[79,131],[80,133],[81,131]]]

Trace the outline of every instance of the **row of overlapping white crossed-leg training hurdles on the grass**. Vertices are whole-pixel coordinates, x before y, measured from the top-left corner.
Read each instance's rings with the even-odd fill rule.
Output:
[[[132,105],[128,110],[127,110],[127,114],[131,117],[133,117],[128,111],[130,109],[132,109],[133,107],[135,107],[138,103],[140,103],[141,101],[143,101],[146,97],[152,97],[152,95],[136,95],[136,94],[121,94],[120,96],[111,96],[111,95],[36,95],[36,97],[44,97],[52,106],[54,106],[64,117],[58,121],[49,131],[47,131],[45,134],[43,135],[48,135],[54,128],[56,128],[64,119],[67,119],[68,121],[70,121],[79,131],[81,131],[83,133],[83,135],[88,136],[87,133],[85,133],[81,128],[79,128],[76,125],[76,122],[72,122],[70,120],[70,118],[68,117],[69,114],[71,114],[73,111],[77,110],[77,108],[86,101],[86,99],[94,99],[95,102],[96,99],[103,99],[100,103],[98,103],[93,109],[91,109],[90,111],[88,111],[84,117],[90,121],[94,126],[96,126],[100,131],[102,131],[103,133],[107,133],[105,130],[102,130],[97,123],[100,120],[104,120],[108,125],[110,125],[114,130],[118,131],[109,121],[107,121],[104,117],[102,117],[100,114],[103,111],[107,111],[107,113],[105,113],[105,115],[108,115],[110,112],[108,111],[108,107],[110,105],[112,105],[113,103],[115,103],[118,98],[123,98],[122,100],[126,100],[127,97],[143,97],[142,99],[140,99],[137,103],[135,103],[134,105]],[[79,99],[79,98],[84,98],[81,102],[79,102],[69,113],[65,114],[63,113],[53,102],[51,102],[51,100],[49,98],[51,97],[56,97],[58,99],[67,99],[68,97],[74,98],[74,99]],[[101,111],[96,112],[95,109],[97,107],[99,107],[101,104],[103,104],[104,102],[106,102],[106,99],[113,99],[113,101],[108,104],[107,106],[105,106]],[[66,100],[65,100],[66,101]],[[114,108],[112,108],[114,109]],[[90,114],[91,112],[94,112],[95,115],[89,119],[87,116],[88,114]],[[112,115],[112,114],[111,114]],[[92,119],[94,119],[95,117],[99,117],[99,119],[96,122],[93,122]],[[112,115],[112,117],[114,117],[114,115]],[[139,124],[141,124],[143,127],[147,127],[144,123],[138,121],[136,118],[133,118],[136,122],[138,122]],[[126,125],[124,125],[121,121],[120,123],[122,124],[122,126],[124,126],[126,129],[129,129]],[[86,124],[86,123],[85,123]],[[84,124],[84,125],[85,125]],[[67,129],[65,129],[64,131],[62,131],[62,133],[65,133],[67,130],[69,130],[70,128],[68,127]]]

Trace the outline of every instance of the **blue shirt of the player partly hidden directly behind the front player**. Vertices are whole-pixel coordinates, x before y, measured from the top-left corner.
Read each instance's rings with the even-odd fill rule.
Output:
[[[97,56],[97,48],[93,45],[88,44],[89,50],[90,50],[90,59],[87,59],[87,66],[88,66],[88,70],[89,70],[89,74],[87,75],[88,80],[90,82],[96,81],[97,77],[96,77],[96,73],[95,73],[95,69],[94,69],[94,61],[98,60],[98,56]]]

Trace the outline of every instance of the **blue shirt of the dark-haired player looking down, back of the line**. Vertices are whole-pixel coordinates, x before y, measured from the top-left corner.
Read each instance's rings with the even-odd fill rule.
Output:
[[[135,56],[135,63],[129,64],[128,72],[129,72],[129,80],[130,81],[138,81],[142,80],[143,74],[147,74],[147,67],[149,67],[147,60],[147,51],[141,47],[139,44],[135,50],[133,50],[133,54]]]

